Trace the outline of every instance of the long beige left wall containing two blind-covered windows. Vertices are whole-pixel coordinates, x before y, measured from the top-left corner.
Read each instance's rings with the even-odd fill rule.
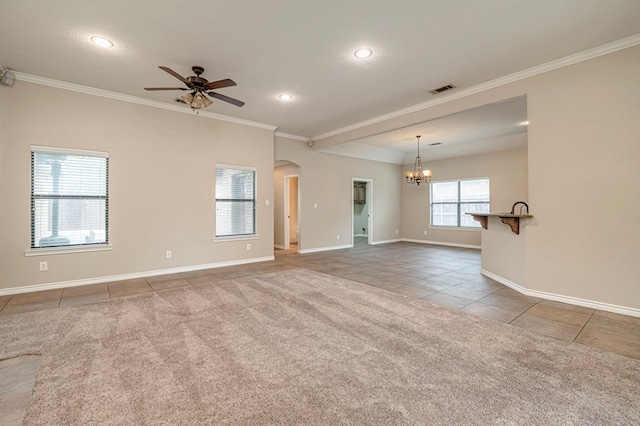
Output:
[[[0,289],[273,255],[272,130],[25,82],[0,96]],[[109,153],[112,251],[25,256],[31,144]],[[213,242],[216,163],[257,168],[259,239]]]

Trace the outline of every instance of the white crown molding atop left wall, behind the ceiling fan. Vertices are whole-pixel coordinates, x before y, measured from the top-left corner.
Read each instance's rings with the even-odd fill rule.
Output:
[[[27,83],[40,84],[42,86],[54,87],[56,89],[70,90],[72,92],[84,93],[92,96],[100,96],[102,98],[115,99],[117,101],[130,102],[138,105],[150,106],[153,108],[166,109],[169,111],[181,112],[183,114],[193,114],[193,110],[185,108],[180,105],[172,105],[165,102],[154,101],[151,99],[144,99],[138,96],[125,95],[123,93],[111,92],[109,90],[96,89],[94,87],[82,86],[80,84],[68,83],[66,81],[54,80],[46,77],[39,77],[37,75],[25,74],[19,71],[13,71],[16,75],[16,80],[24,81]],[[231,117],[228,115],[217,114],[209,111],[198,111],[199,117],[213,118],[214,120],[226,121],[234,124],[241,124],[243,126],[257,127],[259,129],[267,129],[275,131],[278,126],[272,124],[259,123],[257,121],[245,120],[242,118]],[[306,139],[305,139],[306,140]]]

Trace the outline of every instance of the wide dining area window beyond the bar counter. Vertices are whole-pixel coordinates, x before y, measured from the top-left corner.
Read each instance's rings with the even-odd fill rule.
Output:
[[[468,212],[489,213],[489,179],[431,183],[431,226],[479,228]]]

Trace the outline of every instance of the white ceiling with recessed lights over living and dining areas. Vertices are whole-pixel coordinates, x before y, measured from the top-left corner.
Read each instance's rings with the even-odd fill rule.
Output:
[[[0,59],[12,70],[175,105],[181,92],[143,87],[180,86],[159,65],[183,76],[200,65],[209,80],[235,80],[217,91],[246,102],[207,111],[308,138],[639,33],[640,0],[0,0]],[[355,58],[359,47],[373,56]],[[355,143],[406,162],[417,134],[455,151],[487,131],[454,135],[454,119]],[[493,133],[474,138],[514,130]]]

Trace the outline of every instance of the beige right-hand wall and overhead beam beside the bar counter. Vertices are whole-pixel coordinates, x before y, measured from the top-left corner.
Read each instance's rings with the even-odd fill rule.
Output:
[[[526,95],[528,195],[535,217],[527,224],[526,279],[518,284],[640,315],[638,75],[640,46],[316,144],[352,140]]]

